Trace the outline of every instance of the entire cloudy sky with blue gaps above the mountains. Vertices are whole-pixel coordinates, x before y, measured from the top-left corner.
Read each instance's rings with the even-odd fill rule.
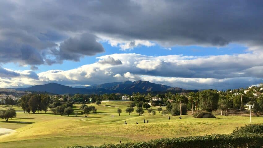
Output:
[[[0,87],[263,82],[263,1],[0,0]]]

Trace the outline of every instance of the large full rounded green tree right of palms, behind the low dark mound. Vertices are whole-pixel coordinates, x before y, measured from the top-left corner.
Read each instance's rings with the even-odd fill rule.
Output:
[[[200,107],[207,112],[218,109],[219,94],[216,90],[204,90],[199,93]]]

